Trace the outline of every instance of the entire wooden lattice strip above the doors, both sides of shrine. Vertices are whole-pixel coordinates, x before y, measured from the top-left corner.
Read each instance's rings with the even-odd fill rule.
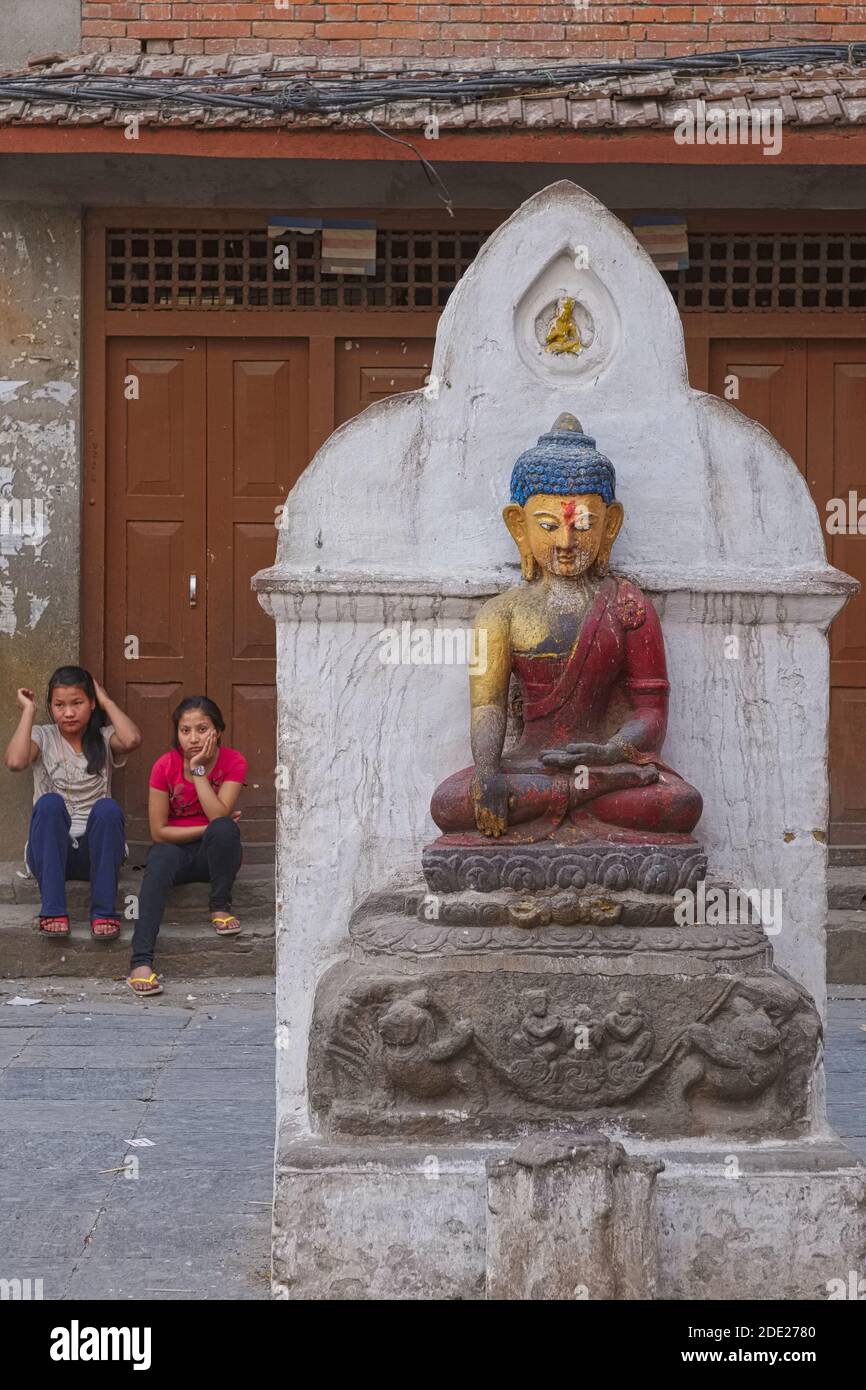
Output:
[[[110,229],[108,309],[443,309],[491,234],[379,231],[375,275],[325,275],[321,234]],[[278,270],[275,246],[288,246]],[[688,238],[688,270],[664,271],[683,313],[866,309],[866,232]]]

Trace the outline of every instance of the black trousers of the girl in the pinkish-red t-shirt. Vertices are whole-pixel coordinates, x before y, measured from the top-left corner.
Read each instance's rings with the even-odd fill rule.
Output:
[[[240,831],[231,816],[217,816],[200,840],[186,845],[150,847],[132,935],[133,967],[153,963],[168,890],[178,883],[210,883],[211,913],[231,909],[240,858]]]

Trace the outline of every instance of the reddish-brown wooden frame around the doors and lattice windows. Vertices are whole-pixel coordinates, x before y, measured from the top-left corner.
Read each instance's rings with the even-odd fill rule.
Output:
[[[272,210],[272,208],[271,208]],[[106,367],[111,338],[306,338],[309,341],[310,457],[335,425],[335,341],[338,338],[435,338],[441,310],[213,309],[108,310],[106,306],[106,231],[113,225],[224,229],[261,221],[268,208],[96,208],[85,214],[82,286],[82,521],[81,521],[81,660],[104,670],[106,612]],[[316,217],[356,217],[357,208],[309,208]],[[448,231],[455,221],[442,208],[364,210],[382,229]],[[460,227],[493,231],[510,210],[460,211]],[[617,210],[628,222],[632,211]],[[719,232],[866,232],[865,211],[689,211],[689,231]],[[685,313],[681,316],[691,385],[706,391],[712,338],[862,338],[866,316],[769,310],[766,313]]]

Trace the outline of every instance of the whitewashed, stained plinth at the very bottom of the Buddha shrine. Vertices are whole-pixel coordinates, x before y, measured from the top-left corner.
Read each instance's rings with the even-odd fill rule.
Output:
[[[662,1169],[655,1183],[652,1175],[646,1179],[656,1208],[653,1297],[820,1301],[840,1280],[848,1284],[851,1270],[860,1277],[866,1169],[841,1144],[695,1141],[628,1145],[628,1152]],[[524,1250],[535,1238],[550,1251],[566,1233],[550,1232],[546,1205],[534,1213],[531,1202],[503,1197],[491,1173],[507,1172],[514,1162],[513,1144],[321,1144],[284,1126],[277,1297],[474,1301],[506,1287],[530,1297],[503,1248],[502,1222],[520,1229]],[[653,1194],[635,1195],[639,1219],[651,1218]],[[571,1230],[585,1233],[569,1255],[569,1270],[582,1275],[571,1297],[609,1297],[610,1245],[599,1251],[594,1227],[580,1225],[580,1213]],[[619,1240],[623,1222],[613,1230]],[[623,1283],[619,1297],[626,1298],[646,1297],[653,1287],[651,1232],[632,1226],[632,1236],[616,1268],[642,1272],[644,1283]]]

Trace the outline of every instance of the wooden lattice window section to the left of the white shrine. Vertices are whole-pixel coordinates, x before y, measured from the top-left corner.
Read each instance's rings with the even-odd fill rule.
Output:
[[[379,231],[375,275],[325,275],[321,232],[111,228],[108,309],[442,309],[489,232]],[[288,247],[277,268],[275,246]]]

